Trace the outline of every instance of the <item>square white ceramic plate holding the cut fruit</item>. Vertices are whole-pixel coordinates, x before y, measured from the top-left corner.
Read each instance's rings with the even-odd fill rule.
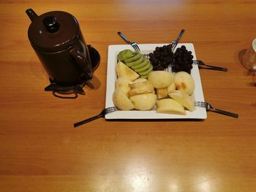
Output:
[[[155,47],[162,47],[167,44],[140,44],[140,53],[151,53],[154,51]],[[176,48],[185,45],[187,50],[192,52],[194,59],[195,49],[192,43],[180,43]],[[116,63],[117,63],[117,54],[121,50],[132,49],[131,45],[110,45],[108,47],[108,71],[107,71],[107,89],[106,89],[106,104],[105,107],[113,107],[113,92],[115,90],[115,81],[116,81]],[[203,89],[200,80],[200,74],[197,65],[193,65],[191,75],[195,81],[195,91],[193,93],[195,101],[204,101]],[[157,113],[155,110],[151,111],[121,111],[111,112],[108,115],[105,115],[107,120],[118,120],[118,119],[206,119],[206,109],[203,107],[195,107],[193,112],[186,110],[186,115],[170,115]]]

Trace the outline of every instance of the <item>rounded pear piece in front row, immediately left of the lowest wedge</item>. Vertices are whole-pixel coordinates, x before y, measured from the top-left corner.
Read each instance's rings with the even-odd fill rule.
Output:
[[[144,93],[131,96],[129,99],[132,104],[135,105],[136,110],[148,111],[155,106],[157,102],[157,95],[154,93]]]

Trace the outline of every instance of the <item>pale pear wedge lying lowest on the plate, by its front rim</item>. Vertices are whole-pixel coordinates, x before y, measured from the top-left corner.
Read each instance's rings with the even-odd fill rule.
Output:
[[[161,99],[157,102],[157,112],[186,115],[184,107],[174,99]]]

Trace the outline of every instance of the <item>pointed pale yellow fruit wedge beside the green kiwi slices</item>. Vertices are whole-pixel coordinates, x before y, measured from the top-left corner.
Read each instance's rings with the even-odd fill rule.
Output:
[[[134,72],[132,69],[129,68],[126,64],[121,61],[118,61],[116,64],[116,73],[117,77],[124,77],[128,80],[134,81],[140,77],[140,75]]]

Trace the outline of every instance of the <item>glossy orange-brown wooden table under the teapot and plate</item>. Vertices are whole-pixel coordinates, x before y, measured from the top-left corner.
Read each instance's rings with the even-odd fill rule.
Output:
[[[38,15],[78,18],[101,55],[95,89],[58,99],[27,36]],[[1,1],[0,191],[256,191],[256,76],[238,53],[255,39],[255,1]],[[105,107],[108,45],[167,43],[181,28],[197,58],[228,72],[200,69],[206,101],[237,112],[203,121],[95,120]]]

